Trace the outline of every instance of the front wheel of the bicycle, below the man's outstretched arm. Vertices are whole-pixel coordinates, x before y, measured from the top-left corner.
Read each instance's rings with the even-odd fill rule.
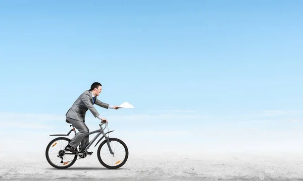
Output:
[[[106,168],[116,169],[123,166],[128,158],[126,144],[118,138],[109,138],[110,146],[114,154],[110,153],[107,140],[104,140],[98,147],[97,157],[99,162]]]

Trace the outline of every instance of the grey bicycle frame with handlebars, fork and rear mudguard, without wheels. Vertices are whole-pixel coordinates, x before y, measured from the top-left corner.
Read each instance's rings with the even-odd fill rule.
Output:
[[[69,123],[69,124],[70,124],[70,123]],[[104,124],[104,123],[99,124],[99,126],[100,126],[100,129],[99,129],[99,130],[95,130],[95,131],[93,131],[93,132],[89,132],[89,133],[86,134],[86,135],[92,135],[92,134],[94,134],[94,133],[98,133],[98,134],[89,142],[89,144],[87,145],[87,147],[84,149],[85,151],[92,145],[92,143],[93,143],[101,134],[103,134],[103,136],[97,141],[97,143],[95,144],[94,147],[96,147],[97,144],[98,144],[103,138],[105,138],[105,139],[107,140],[107,145],[108,145],[108,147],[109,147],[109,150],[110,150],[111,154],[114,154],[113,151],[112,151],[112,149],[111,149],[110,143],[109,143],[109,137],[106,136],[106,134],[111,133],[111,132],[113,132],[113,131],[115,131],[115,130],[109,131],[109,132],[107,132],[107,133],[104,133],[104,130],[105,130],[105,128],[107,127],[107,125],[106,125],[105,128],[103,129],[103,128],[102,128],[102,125],[103,125],[103,124]],[[75,130],[75,127],[74,127],[72,124],[70,125],[70,127],[73,127],[73,129],[71,129],[66,135],[49,135],[49,136],[69,136],[70,133],[71,133],[72,131],[74,131],[74,132],[75,132],[75,135],[76,135],[77,132],[76,132],[76,130]]]

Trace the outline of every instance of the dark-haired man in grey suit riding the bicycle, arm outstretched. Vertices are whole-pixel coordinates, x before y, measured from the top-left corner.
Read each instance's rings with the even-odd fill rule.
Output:
[[[77,146],[81,142],[81,149],[84,150],[89,143],[89,129],[85,125],[85,114],[89,109],[94,117],[99,118],[103,123],[107,123],[107,119],[102,117],[98,111],[93,107],[94,104],[104,107],[106,109],[119,109],[119,106],[109,105],[97,99],[97,96],[102,92],[102,85],[98,82],[94,82],[89,90],[84,91],[77,100],[73,103],[72,107],[66,113],[66,119],[70,122],[77,130],[78,133],[65,147],[65,151],[78,153]],[[92,152],[87,152],[92,154]]]

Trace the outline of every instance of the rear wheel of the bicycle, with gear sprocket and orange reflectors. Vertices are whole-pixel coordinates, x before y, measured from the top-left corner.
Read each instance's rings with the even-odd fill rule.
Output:
[[[65,147],[71,140],[66,137],[55,138],[48,143],[45,156],[47,162],[55,168],[64,169],[72,166],[78,155],[76,154],[65,154]]]

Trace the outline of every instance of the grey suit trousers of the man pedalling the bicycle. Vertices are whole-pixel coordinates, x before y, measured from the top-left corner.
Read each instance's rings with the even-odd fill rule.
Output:
[[[89,129],[85,125],[84,122],[81,120],[76,120],[70,117],[66,117],[66,119],[78,130],[78,133],[75,135],[75,137],[70,141],[69,145],[77,148],[77,146],[81,142],[81,149],[85,149],[88,146],[89,143]]]

